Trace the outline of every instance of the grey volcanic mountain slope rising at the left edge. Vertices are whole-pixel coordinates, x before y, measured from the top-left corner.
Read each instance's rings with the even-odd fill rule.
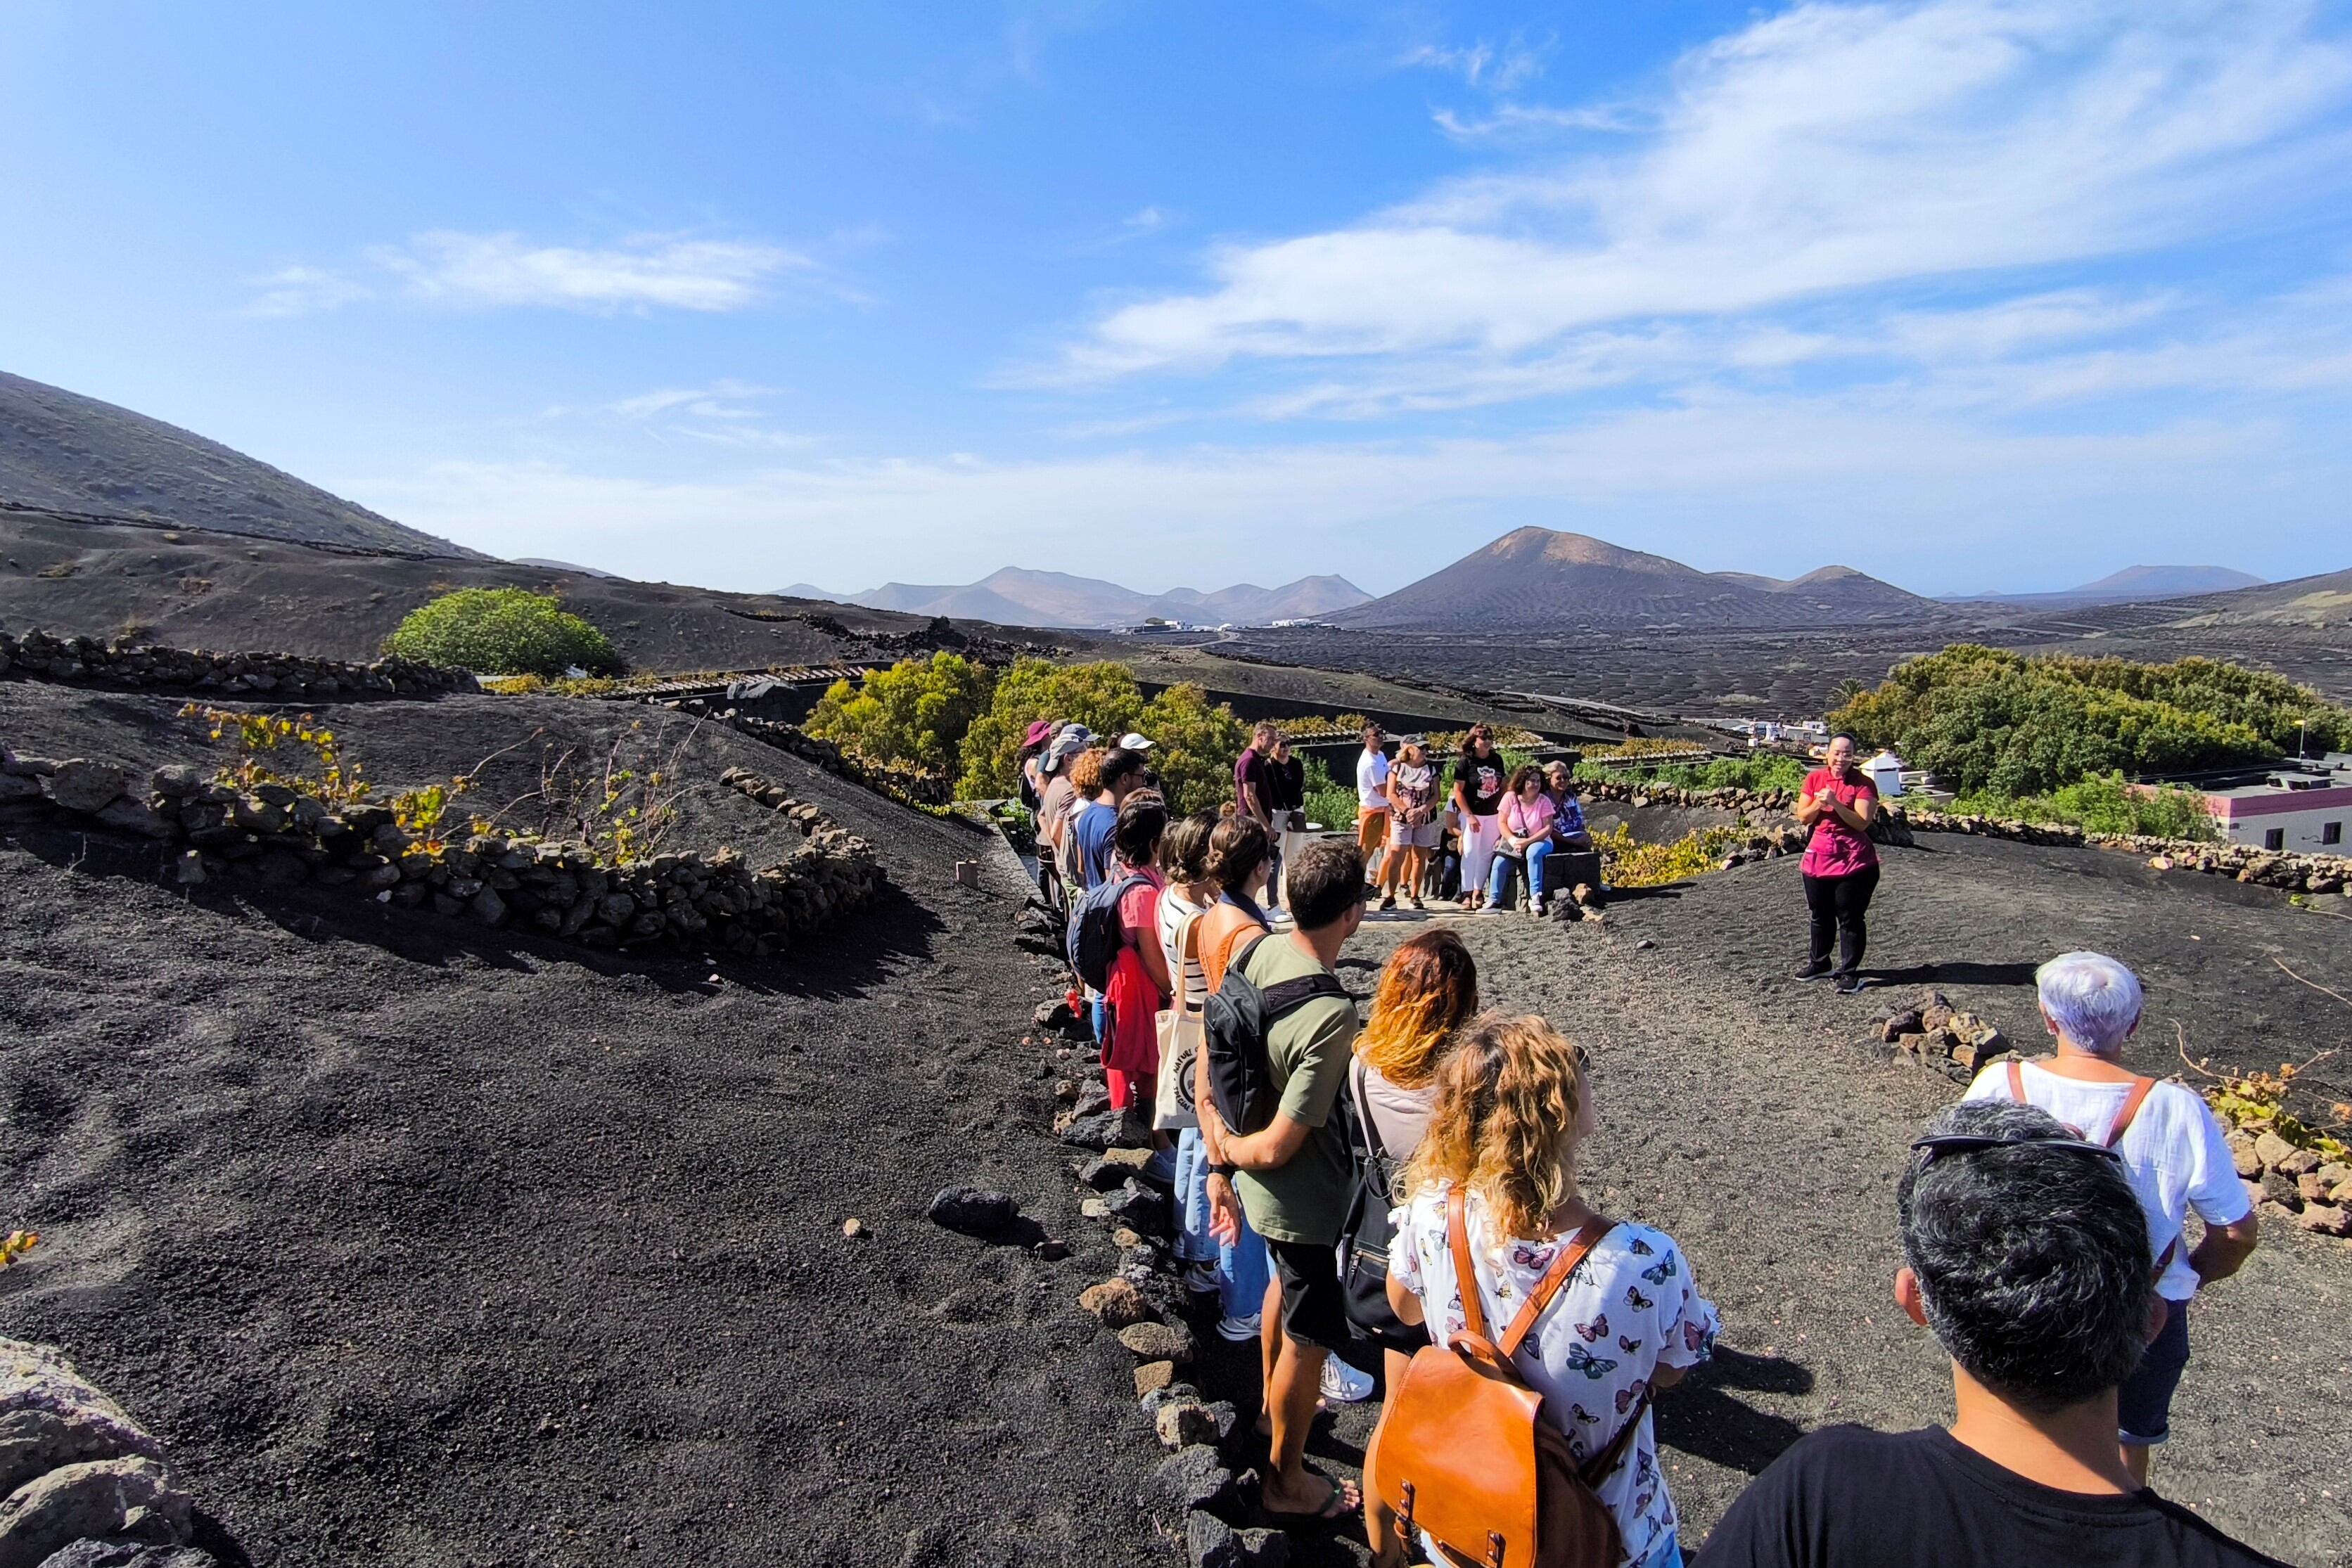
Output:
[[[306,545],[487,559],[202,435],[0,371],[0,503]]]

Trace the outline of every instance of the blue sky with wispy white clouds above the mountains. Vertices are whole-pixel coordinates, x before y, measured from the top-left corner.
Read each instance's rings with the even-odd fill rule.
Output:
[[[0,369],[499,555],[2352,564],[2288,0],[0,5]]]

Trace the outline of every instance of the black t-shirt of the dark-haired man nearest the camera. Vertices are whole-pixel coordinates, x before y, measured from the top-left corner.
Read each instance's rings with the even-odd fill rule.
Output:
[[[2284,1568],[2154,1493],[2060,1493],[1943,1427],[1825,1427],[1757,1476],[1691,1568]]]

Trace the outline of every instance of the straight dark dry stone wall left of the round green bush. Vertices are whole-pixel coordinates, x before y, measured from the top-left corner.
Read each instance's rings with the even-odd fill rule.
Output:
[[[52,679],[125,691],[202,691],[287,703],[348,703],[372,696],[437,696],[475,691],[466,670],[426,665],[414,658],[379,658],[355,665],[299,654],[207,654],[165,649],[127,637],[52,637],[42,630],[0,632],[0,679]]]

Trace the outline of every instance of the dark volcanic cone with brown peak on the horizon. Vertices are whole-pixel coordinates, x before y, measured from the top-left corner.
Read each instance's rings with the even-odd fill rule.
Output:
[[[1418,583],[1338,611],[1341,625],[1421,630],[1780,628],[1947,618],[1933,599],[1823,567],[1780,581],[1698,571],[1585,534],[1517,529]]]

